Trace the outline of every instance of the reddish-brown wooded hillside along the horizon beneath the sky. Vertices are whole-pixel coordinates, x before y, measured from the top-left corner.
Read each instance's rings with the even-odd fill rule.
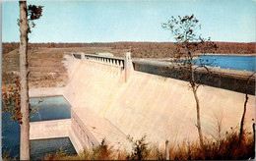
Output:
[[[215,42],[218,45],[216,53],[219,54],[252,54],[255,53],[256,43]],[[3,54],[19,48],[19,43],[3,43]],[[126,50],[132,49],[134,58],[167,58],[174,50],[173,42],[111,42],[111,43],[30,43],[30,48],[70,48],[70,47],[109,47],[115,56],[121,56]],[[109,51],[108,51],[109,52]]]

